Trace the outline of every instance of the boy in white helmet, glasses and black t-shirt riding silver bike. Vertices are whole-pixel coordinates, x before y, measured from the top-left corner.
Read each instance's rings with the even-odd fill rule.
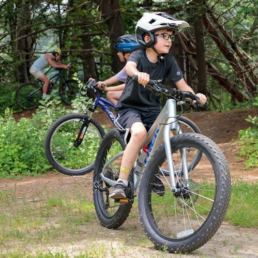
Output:
[[[174,34],[187,27],[187,22],[162,12],[144,13],[137,23],[137,41],[146,48],[132,53],[125,66],[126,74],[137,75],[138,81],[133,81],[132,77],[127,78],[125,89],[116,106],[114,124],[127,146],[121,161],[119,179],[110,191],[110,198],[126,198],[129,173],[148,130],[159,114],[160,97],[144,87],[150,78],[164,83],[168,77],[179,90],[195,94],[183,79],[174,57],[168,54]],[[200,103],[205,104],[206,96],[201,93],[196,95]],[[159,196],[164,195],[161,181],[154,184],[152,190]]]

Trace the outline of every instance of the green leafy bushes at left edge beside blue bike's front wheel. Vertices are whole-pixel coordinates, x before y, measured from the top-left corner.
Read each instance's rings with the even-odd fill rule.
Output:
[[[49,126],[71,112],[60,100],[42,103],[32,119],[15,121],[7,108],[0,116],[0,178],[36,175],[51,168],[45,157],[44,140]]]

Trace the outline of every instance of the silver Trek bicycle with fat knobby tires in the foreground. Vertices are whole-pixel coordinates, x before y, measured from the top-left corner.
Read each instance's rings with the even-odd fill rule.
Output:
[[[109,199],[125,148],[118,131],[113,129],[103,138],[96,157],[95,210],[104,227],[118,228],[137,196],[140,222],[154,245],[169,252],[190,252],[212,238],[228,210],[231,183],[227,160],[208,137],[182,134],[175,98],[192,99],[198,105],[195,95],[152,80],[148,87],[169,98],[129,175],[127,198]],[[165,192],[157,196],[153,185],[164,185]]]

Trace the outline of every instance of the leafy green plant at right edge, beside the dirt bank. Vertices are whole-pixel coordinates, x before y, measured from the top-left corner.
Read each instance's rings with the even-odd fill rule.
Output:
[[[240,160],[244,160],[246,168],[258,167],[258,117],[249,115],[245,120],[253,126],[238,132],[242,143],[239,151]]]

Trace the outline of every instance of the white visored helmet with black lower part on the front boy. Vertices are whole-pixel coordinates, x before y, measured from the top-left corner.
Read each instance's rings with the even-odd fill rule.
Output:
[[[167,13],[144,13],[136,25],[136,38],[141,45],[152,47],[157,41],[154,31],[162,29],[178,31],[179,29],[187,27],[190,27],[190,25],[186,21],[179,20]],[[151,38],[148,43],[144,41],[144,35],[146,33],[148,33]]]

